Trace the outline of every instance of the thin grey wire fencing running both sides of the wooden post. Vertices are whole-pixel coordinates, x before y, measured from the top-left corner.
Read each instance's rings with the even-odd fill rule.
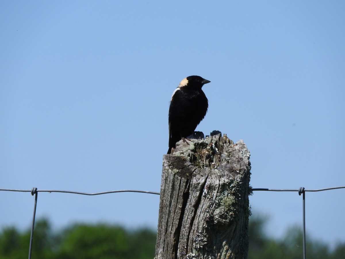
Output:
[[[345,189],[345,186],[337,186],[337,187],[330,187],[330,188],[323,188],[323,189],[305,189],[304,187],[300,187],[299,189],[267,189],[267,188],[251,188],[251,191],[271,191],[271,192],[298,192],[298,195],[302,195],[303,197],[303,259],[306,259],[306,243],[305,243],[305,192],[319,192],[319,191],[327,191],[327,190],[334,190],[334,189]],[[108,193],[117,193],[117,192],[139,192],[139,193],[150,193],[150,194],[160,194],[159,192],[151,192],[151,191],[141,191],[141,190],[117,190],[117,191],[107,191],[107,192],[95,192],[95,193],[87,193],[87,192],[76,192],[76,191],[63,191],[63,190],[38,190],[36,187],[32,188],[31,190],[20,190],[20,189],[0,189],[0,191],[10,191],[10,192],[31,192],[31,195],[35,195],[35,201],[33,206],[33,216],[32,216],[32,224],[31,224],[31,234],[30,234],[30,244],[29,244],[29,259],[31,259],[31,249],[32,249],[32,240],[33,240],[33,229],[35,224],[35,217],[36,217],[36,206],[37,206],[37,194],[38,192],[60,192],[60,193],[74,193],[74,194],[81,194],[81,195],[100,195],[100,194],[108,194]]]

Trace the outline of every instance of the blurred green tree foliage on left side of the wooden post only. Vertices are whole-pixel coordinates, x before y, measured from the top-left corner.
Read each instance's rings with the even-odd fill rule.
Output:
[[[19,233],[4,228],[0,233],[0,258],[27,258],[30,231]],[[156,232],[142,228],[134,231],[110,224],[75,224],[54,233],[47,219],[35,223],[32,258],[65,259],[152,259]]]

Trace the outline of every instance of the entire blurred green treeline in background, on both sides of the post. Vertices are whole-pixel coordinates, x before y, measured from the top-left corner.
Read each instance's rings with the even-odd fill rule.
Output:
[[[265,233],[265,217],[249,220],[248,259],[300,259],[303,257],[302,230],[291,227],[282,239]],[[326,244],[308,239],[307,258],[344,259],[345,243],[333,250]],[[27,258],[30,230],[14,227],[0,231],[0,258]],[[152,259],[155,255],[156,232],[151,229],[127,230],[110,224],[74,224],[59,232],[53,231],[47,219],[35,223],[32,258],[66,259]]]

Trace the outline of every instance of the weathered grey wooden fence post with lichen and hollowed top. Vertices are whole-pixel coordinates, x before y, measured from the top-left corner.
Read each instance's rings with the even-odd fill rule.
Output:
[[[247,258],[250,153],[217,134],[164,155],[155,259]]]

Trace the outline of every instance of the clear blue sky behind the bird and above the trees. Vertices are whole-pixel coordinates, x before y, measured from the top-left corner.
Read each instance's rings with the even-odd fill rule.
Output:
[[[159,191],[181,79],[211,81],[205,134],[243,139],[253,188],[345,185],[343,1],[2,1],[0,188]],[[306,194],[311,237],[345,241],[344,190]],[[0,227],[28,227],[29,193],[0,192]],[[297,193],[255,192],[280,237]],[[54,227],[156,228],[159,196],[39,193]]]

